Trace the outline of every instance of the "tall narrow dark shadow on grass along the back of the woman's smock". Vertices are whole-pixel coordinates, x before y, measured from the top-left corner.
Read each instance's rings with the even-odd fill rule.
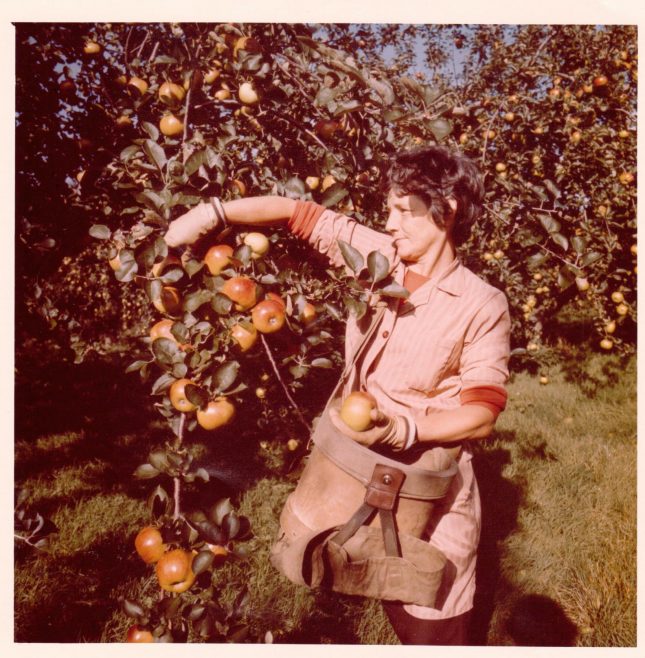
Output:
[[[501,442],[516,439],[514,432],[498,432]],[[471,624],[471,644],[484,646],[500,591],[510,591],[510,583],[500,575],[499,543],[517,527],[522,501],[522,487],[502,475],[510,462],[510,451],[504,448],[476,447],[473,468],[482,505],[482,531],[477,553],[477,590]]]

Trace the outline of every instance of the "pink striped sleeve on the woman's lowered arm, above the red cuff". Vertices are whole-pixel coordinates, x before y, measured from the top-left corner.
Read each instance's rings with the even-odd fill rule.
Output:
[[[462,390],[506,384],[510,335],[508,302],[498,291],[479,309],[466,333],[459,368]]]

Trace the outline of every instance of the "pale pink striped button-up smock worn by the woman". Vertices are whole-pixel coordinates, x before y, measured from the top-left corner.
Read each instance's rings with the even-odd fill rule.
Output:
[[[306,230],[300,236],[332,264],[345,265],[338,247],[344,240],[364,257],[375,249],[390,261],[395,280],[403,283],[405,266],[393,241],[355,220],[315,204],[305,204]],[[303,213],[300,213],[302,216]],[[300,226],[293,226],[299,234]],[[347,321],[347,362],[369,323]],[[465,268],[459,260],[440,276],[423,283],[406,300],[392,299],[381,325],[353,369],[345,393],[368,390],[386,413],[413,416],[453,409],[464,390],[503,387],[508,379],[510,317],[504,293]],[[481,508],[472,455],[466,447],[459,471],[428,528],[429,541],[454,566],[454,580],[445,583],[437,608],[406,605],[422,619],[444,619],[473,605],[475,565]]]

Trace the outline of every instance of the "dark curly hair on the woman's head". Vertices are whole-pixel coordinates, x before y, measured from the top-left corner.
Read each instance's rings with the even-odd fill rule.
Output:
[[[416,194],[430,208],[439,226],[449,211],[448,197],[457,201],[452,237],[461,244],[480,216],[484,184],[475,163],[459,151],[431,145],[395,154],[387,172],[390,190]]]

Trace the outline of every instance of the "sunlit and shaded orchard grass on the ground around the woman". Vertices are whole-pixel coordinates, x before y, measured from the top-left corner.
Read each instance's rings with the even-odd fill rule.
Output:
[[[121,373],[105,374],[118,382]],[[548,374],[546,386],[533,375],[514,377],[495,435],[476,447],[483,529],[474,640],[513,644],[510,631],[518,640],[517,620],[537,595],[555,613],[546,631],[543,609],[528,621],[525,614],[529,635],[552,644],[564,644],[566,636],[577,646],[634,646],[635,360],[572,359]],[[143,392],[99,387],[92,404],[76,403],[82,382],[68,391],[66,416],[54,419],[51,433],[42,431],[40,418],[20,420],[27,412],[17,394],[16,484],[29,489],[29,509],[59,530],[47,551],[16,543],[19,642],[120,641],[130,622],[118,597],[156,596],[152,570],[132,546],[147,522],[150,482],[134,481],[131,473],[163,432],[141,414]],[[67,400],[51,386],[48,394]],[[277,518],[295,485],[294,477],[270,468],[281,450],[270,442],[264,459],[251,464],[251,475],[249,451],[226,457],[231,468],[246,468],[236,502],[251,518],[254,538],[248,561],[216,572],[221,596],[234,595],[228,582],[248,585],[254,638],[271,631],[278,643],[396,644],[377,602],[296,587],[270,566]]]

